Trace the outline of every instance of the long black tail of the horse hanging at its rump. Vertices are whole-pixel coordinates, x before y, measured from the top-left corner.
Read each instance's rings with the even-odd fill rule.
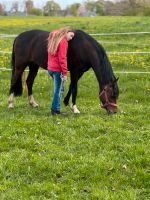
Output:
[[[16,38],[17,39],[17,38]],[[13,43],[13,48],[12,48],[12,57],[11,57],[11,64],[12,64],[12,76],[11,76],[11,88],[9,93],[14,93],[14,96],[21,96],[22,95],[22,77],[21,75],[15,74],[16,70],[16,63],[15,63],[15,42],[16,39],[14,40]],[[14,76],[16,76],[16,80],[14,81]]]

